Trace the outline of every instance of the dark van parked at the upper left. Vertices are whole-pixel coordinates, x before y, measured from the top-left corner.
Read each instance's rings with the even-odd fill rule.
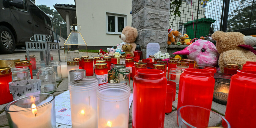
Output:
[[[30,0],[0,0],[0,53],[25,47],[33,34],[52,36],[50,17]]]

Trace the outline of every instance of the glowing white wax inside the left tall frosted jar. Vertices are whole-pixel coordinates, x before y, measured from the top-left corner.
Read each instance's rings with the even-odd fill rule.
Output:
[[[72,128],[97,128],[97,113],[86,104],[71,104]]]

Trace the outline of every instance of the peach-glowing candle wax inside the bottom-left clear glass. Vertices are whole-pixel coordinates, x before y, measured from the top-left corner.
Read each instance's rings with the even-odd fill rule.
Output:
[[[10,117],[16,128],[52,128],[51,121],[51,108],[52,104],[45,105],[37,108],[36,116],[32,111],[22,111],[25,108],[11,105],[10,111],[22,111],[22,112],[10,112]]]

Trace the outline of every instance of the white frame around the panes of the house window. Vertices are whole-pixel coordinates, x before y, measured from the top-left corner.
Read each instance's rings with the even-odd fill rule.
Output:
[[[115,17],[115,32],[109,32],[108,31],[108,27],[109,27],[108,26],[108,16],[114,16]],[[127,26],[127,15],[126,14],[106,12],[106,34],[115,34],[115,35],[121,35],[122,34],[122,32],[118,32],[117,17],[124,17],[124,27]]]

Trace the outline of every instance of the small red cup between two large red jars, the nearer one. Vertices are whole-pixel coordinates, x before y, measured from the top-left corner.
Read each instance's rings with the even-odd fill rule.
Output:
[[[172,88],[168,87],[166,89],[166,102],[165,102],[165,113],[172,112],[172,99],[173,99],[174,91]]]

